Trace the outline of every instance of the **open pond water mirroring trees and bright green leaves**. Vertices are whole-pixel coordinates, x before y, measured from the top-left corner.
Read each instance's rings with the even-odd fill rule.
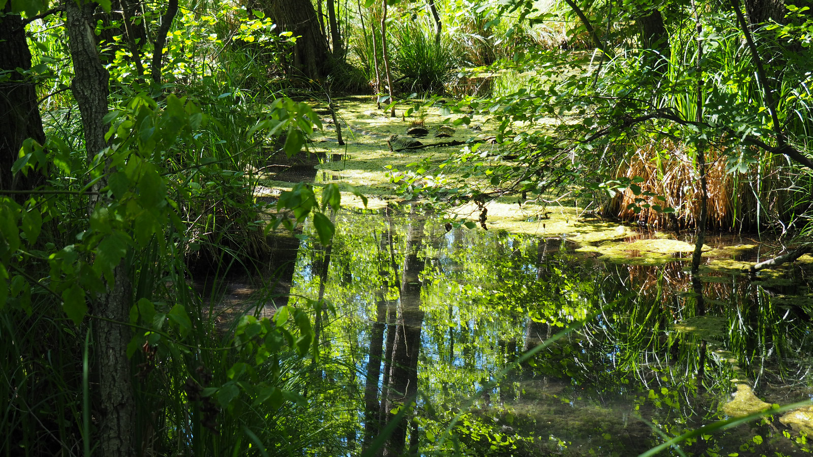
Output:
[[[693,285],[680,253],[598,259],[562,237],[448,229],[418,211],[341,211],[333,246],[299,235],[277,269],[277,303],[328,303],[312,320],[333,388],[310,401],[344,424],[346,455],[639,455],[725,411],[813,397],[809,256],[756,281],[706,268]],[[715,252],[727,258],[706,265],[757,254]],[[811,415],[794,414],[660,455],[806,454]]]

